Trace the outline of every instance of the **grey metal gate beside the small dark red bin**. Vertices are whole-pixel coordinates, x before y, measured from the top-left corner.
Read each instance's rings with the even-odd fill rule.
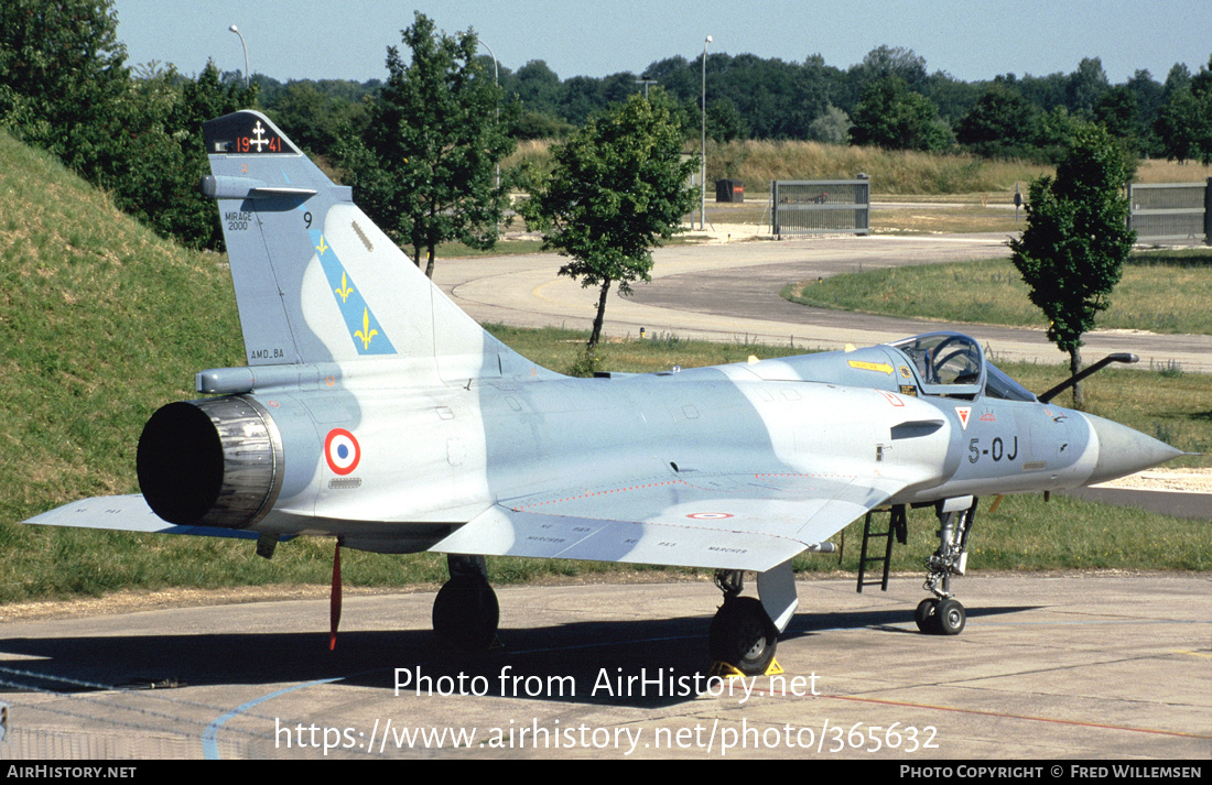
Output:
[[[870,234],[871,181],[773,181],[773,234]]]

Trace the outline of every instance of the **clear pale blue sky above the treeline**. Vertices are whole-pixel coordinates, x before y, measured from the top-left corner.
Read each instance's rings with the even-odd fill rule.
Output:
[[[501,65],[545,61],[561,79],[640,74],[667,57],[751,53],[848,68],[877,46],[911,48],[926,68],[962,81],[1071,73],[1098,57],[1113,84],[1148,69],[1165,81],[1212,55],[1210,0],[114,0],[127,63],[199,73],[250,70],[292,79],[384,79],[387,47],[413,11],[440,30],[474,29]]]

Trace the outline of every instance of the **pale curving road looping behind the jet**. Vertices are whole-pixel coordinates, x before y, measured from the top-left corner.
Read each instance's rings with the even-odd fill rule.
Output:
[[[787,283],[837,273],[1005,256],[1005,241],[996,234],[829,236],[659,248],[652,282],[638,285],[633,297],[611,298],[606,332],[635,336],[644,327],[648,334],[840,349],[948,328],[973,336],[995,360],[1065,362],[1068,355],[1042,330],[868,316],[805,308],[778,296]],[[435,280],[478,321],[588,328],[596,290],[559,276],[561,260],[553,254],[444,259]],[[1131,351],[1145,367],[1178,362],[1188,371],[1212,372],[1212,336],[1094,331],[1086,344],[1086,357]]]

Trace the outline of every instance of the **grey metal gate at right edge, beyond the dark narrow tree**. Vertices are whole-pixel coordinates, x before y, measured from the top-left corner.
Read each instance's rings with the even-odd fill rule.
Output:
[[[1128,185],[1128,229],[1137,242],[1208,242],[1212,178],[1207,183]]]

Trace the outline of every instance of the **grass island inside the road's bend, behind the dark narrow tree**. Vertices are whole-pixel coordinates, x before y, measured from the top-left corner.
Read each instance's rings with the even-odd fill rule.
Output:
[[[944,292],[945,296],[939,296]],[[1010,258],[924,264],[789,285],[804,305],[987,325],[1046,327]],[[1212,250],[1134,254],[1098,316],[1100,328],[1212,334]]]

